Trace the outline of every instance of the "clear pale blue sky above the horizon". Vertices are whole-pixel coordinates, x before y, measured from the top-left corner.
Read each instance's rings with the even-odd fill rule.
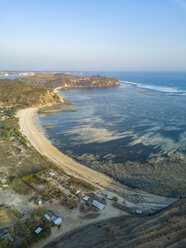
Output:
[[[186,71],[186,0],[0,0],[0,70]]]

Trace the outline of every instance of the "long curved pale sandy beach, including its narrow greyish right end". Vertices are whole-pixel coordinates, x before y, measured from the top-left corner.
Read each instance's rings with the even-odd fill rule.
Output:
[[[114,179],[94,169],[86,167],[75,160],[71,159],[67,155],[63,154],[56,147],[54,147],[50,141],[37,129],[33,121],[34,115],[37,114],[39,108],[26,108],[18,111],[17,117],[19,118],[19,126],[21,132],[27,137],[30,144],[41,155],[46,156],[50,161],[56,164],[58,167],[64,169],[64,171],[74,177],[83,179],[95,187],[105,189],[107,191],[115,192],[116,194],[138,195],[144,199],[144,204],[149,202],[159,204],[172,203],[172,198],[158,196],[147,193],[140,189],[130,188],[124,184],[116,182]],[[150,206],[149,206],[150,207]]]

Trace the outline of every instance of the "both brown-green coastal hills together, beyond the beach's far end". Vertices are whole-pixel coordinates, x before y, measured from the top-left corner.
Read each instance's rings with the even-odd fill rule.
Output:
[[[71,76],[67,74],[36,74],[14,80],[0,79],[0,105],[39,107],[60,103],[61,98],[53,90],[60,88],[101,88],[119,86],[115,78]]]

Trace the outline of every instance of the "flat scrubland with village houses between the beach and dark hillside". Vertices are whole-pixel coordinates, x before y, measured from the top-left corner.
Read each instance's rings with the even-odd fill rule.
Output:
[[[6,157],[0,173],[0,248],[35,248],[85,225],[167,206],[146,194],[139,197],[128,189],[118,194],[66,173],[34,150],[17,126],[15,111],[0,108],[0,152]]]

